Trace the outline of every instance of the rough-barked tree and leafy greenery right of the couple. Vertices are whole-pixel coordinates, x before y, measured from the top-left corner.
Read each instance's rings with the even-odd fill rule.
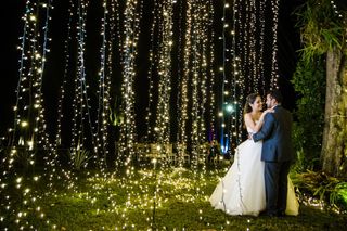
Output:
[[[330,0],[307,0],[297,9],[296,15],[304,47],[293,80],[301,95],[296,132],[301,138],[298,136],[296,140],[306,156],[319,146],[318,139],[323,138],[322,169],[337,176],[347,157],[344,154],[347,149],[339,139],[339,133],[345,134],[346,131],[346,127],[340,125],[346,124],[344,112],[347,111],[342,90],[347,86],[344,81],[347,13]],[[314,155],[318,157],[318,152]]]

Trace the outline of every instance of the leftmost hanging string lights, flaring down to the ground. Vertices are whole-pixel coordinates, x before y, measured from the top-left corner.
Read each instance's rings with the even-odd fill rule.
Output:
[[[46,56],[50,51],[48,31],[51,20],[50,10],[53,9],[51,3],[51,0],[40,3],[28,0],[22,17],[24,31],[20,38],[22,46],[18,48],[22,53],[16,89],[17,98],[14,106],[14,127],[11,129],[13,133],[9,141],[12,150],[9,156],[3,159],[8,165],[0,178],[2,198],[0,206],[8,211],[5,216],[1,215],[0,226],[5,230],[9,229],[7,226],[10,226],[13,220],[15,220],[14,226],[17,230],[33,229],[33,224],[27,222],[25,218],[29,215],[39,215],[36,214],[36,190],[30,188],[35,185],[39,177],[35,175],[34,177],[22,177],[22,170],[16,172],[13,166],[18,161],[17,155],[25,155],[26,159],[20,164],[24,164],[22,167],[26,169],[35,165],[34,159],[38,158],[35,158],[36,150],[44,150],[44,154],[48,156],[43,156],[43,161],[46,161],[43,162],[43,175],[52,175],[46,171],[47,167],[51,167],[50,171],[54,172],[55,170],[42,106],[42,78],[46,69]],[[12,201],[15,197],[14,194],[22,195],[25,206],[14,206],[15,203]],[[39,216],[43,217],[44,214],[40,213]]]

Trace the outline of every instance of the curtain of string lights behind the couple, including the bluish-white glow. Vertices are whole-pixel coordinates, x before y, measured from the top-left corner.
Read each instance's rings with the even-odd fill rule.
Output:
[[[279,0],[235,0],[232,8],[224,1],[224,11],[227,75],[220,115],[228,129],[221,137],[227,138],[224,152],[232,152],[243,140],[246,95],[257,92],[266,97],[268,90],[278,88]]]

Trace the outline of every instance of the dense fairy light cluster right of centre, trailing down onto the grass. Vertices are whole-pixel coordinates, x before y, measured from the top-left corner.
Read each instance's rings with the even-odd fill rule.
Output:
[[[213,2],[208,2],[213,3]],[[193,167],[194,200],[204,196],[202,188],[205,185],[205,179],[202,172],[205,172],[206,149],[204,142],[206,136],[206,115],[207,105],[207,82],[208,69],[213,68],[208,60],[208,37],[210,37],[213,4],[206,4],[206,1],[187,2],[187,22],[185,22],[185,46],[183,52],[183,75],[180,81],[180,125],[181,138],[179,152],[184,154],[187,146],[191,149],[191,166]],[[188,121],[191,121],[189,124]],[[187,130],[185,130],[187,129]],[[187,139],[189,131],[189,139]],[[180,154],[180,153],[179,153]],[[202,165],[201,165],[202,164]],[[203,166],[198,170],[200,166]],[[198,208],[200,219],[203,219],[203,209]]]

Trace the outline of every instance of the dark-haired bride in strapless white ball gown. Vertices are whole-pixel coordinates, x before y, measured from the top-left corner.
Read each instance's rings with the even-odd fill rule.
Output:
[[[262,102],[257,93],[249,94],[244,108],[244,120],[247,131],[257,132],[267,113],[261,113]],[[215,209],[222,209],[229,215],[258,216],[266,208],[264,180],[264,162],[260,161],[262,142],[248,139],[235,150],[234,163],[227,175],[216,187],[209,202]],[[286,215],[298,215],[298,202],[294,187],[288,180]]]

